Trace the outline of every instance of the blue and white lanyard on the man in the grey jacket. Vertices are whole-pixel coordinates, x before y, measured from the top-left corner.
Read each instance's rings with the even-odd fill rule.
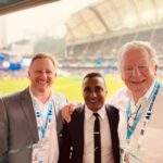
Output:
[[[41,114],[40,114],[39,110],[36,111],[36,118],[39,122],[38,131],[40,131],[40,136],[41,136],[41,138],[43,138],[46,136],[46,130],[47,130],[48,124],[51,123],[51,118],[52,118],[52,101],[49,103],[49,106],[48,106],[48,112],[46,115],[46,123],[40,125]]]

